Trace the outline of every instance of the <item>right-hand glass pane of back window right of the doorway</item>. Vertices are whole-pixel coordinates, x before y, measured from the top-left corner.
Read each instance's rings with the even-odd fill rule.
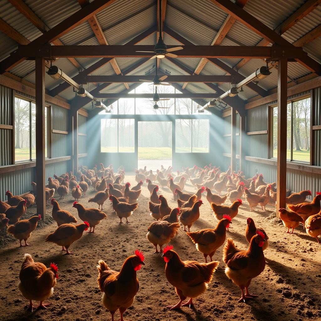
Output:
[[[209,152],[210,122],[208,119],[192,120],[192,153]]]

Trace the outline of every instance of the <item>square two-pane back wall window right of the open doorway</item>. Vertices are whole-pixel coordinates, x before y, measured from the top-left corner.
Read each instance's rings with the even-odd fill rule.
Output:
[[[208,153],[209,120],[176,119],[175,152]]]

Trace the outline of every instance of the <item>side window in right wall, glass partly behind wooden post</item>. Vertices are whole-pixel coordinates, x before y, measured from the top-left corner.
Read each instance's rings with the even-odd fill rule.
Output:
[[[272,151],[277,158],[277,106],[272,108]],[[310,97],[291,101],[287,105],[287,160],[310,161]]]

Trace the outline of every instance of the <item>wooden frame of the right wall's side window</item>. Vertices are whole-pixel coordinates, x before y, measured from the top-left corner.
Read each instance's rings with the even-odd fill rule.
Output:
[[[301,96],[293,97],[287,100],[287,105],[291,104],[291,126],[290,126],[290,159],[287,159],[287,162],[292,162],[292,163],[298,163],[298,164],[303,164],[303,165],[312,165],[311,164],[311,130],[310,130],[310,160],[308,161],[303,161],[303,160],[294,160],[293,159],[293,103],[304,100],[304,99],[310,99],[310,109],[312,108],[312,92],[309,91],[307,94],[303,94]],[[273,103],[271,105],[268,105],[269,110],[268,110],[268,158],[277,160],[277,157],[272,157],[273,155],[273,108],[278,107],[278,103]],[[311,129],[311,112],[309,113],[309,119],[310,119],[310,129]]]

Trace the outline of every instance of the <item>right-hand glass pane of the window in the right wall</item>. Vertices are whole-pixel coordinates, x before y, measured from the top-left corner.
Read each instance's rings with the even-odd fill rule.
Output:
[[[310,161],[310,98],[292,104],[292,159]]]

